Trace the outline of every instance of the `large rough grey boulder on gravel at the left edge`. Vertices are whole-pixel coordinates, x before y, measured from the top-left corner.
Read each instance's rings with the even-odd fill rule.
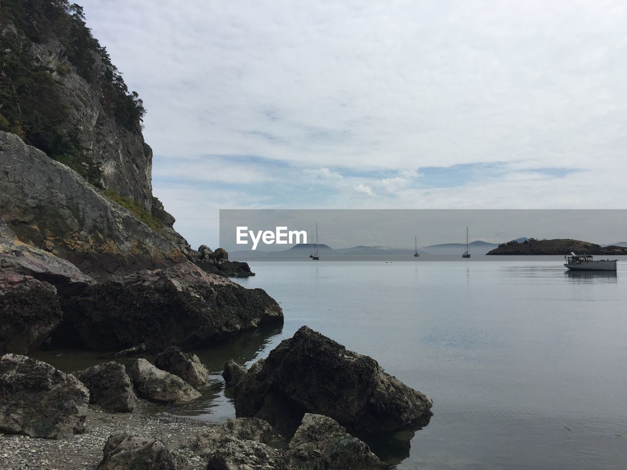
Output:
[[[26,356],[0,359],[0,431],[56,439],[83,432],[89,392],[76,377]]]

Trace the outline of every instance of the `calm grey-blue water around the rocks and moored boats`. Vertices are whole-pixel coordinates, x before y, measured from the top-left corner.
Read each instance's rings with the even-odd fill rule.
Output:
[[[624,469],[627,260],[615,275],[550,256],[449,261],[250,263],[238,282],[277,299],[285,325],[199,351],[216,371],[204,400],[155,410],[232,416],[224,361],[251,363],[308,325],[433,398],[423,429],[369,439],[398,469]],[[66,370],[102,360],[41,355]]]

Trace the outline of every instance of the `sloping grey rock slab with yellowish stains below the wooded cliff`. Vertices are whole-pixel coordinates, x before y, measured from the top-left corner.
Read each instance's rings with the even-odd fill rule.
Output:
[[[76,172],[6,132],[0,132],[0,187],[0,216],[21,241],[93,278],[186,261],[169,232],[155,232]]]

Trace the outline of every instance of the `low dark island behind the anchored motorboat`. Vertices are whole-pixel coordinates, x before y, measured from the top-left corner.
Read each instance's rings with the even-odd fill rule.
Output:
[[[517,240],[502,243],[486,254],[599,254],[616,255],[627,254],[627,247],[601,246],[587,241],[573,240],[570,238],[556,238],[552,240],[539,240],[530,238],[519,242]]]

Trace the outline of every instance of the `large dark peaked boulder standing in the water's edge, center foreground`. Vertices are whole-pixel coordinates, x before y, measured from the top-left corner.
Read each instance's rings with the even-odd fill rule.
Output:
[[[295,417],[300,421],[309,412],[352,430],[392,431],[428,419],[433,405],[385,373],[376,360],[307,326],[251,367],[234,398],[238,416],[260,417],[280,430],[295,429]]]

